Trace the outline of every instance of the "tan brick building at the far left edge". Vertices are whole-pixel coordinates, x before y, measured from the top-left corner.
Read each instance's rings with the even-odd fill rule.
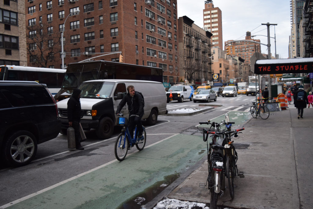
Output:
[[[27,65],[25,2],[0,3],[0,65]]]

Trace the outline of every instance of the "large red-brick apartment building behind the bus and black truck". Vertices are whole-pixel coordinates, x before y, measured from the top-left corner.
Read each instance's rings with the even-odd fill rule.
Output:
[[[119,61],[121,52],[124,63],[161,67],[164,81],[178,80],[176,0],[28,0],[25,9],[29,66],[61,68],[66,20],[65,66],[104,54],[94,60]]]

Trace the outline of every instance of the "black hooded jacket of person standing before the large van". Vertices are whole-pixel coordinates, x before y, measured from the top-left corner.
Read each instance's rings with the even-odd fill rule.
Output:
[[[80,89],[74,89],[72,96],[67,101],[67,118],[69,122],[80,121],[81,107],[80,107]]]

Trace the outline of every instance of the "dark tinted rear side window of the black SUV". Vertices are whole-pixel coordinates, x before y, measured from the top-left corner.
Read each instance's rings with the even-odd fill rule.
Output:
[[[0,91],[13,107],[54,103],[43,86],[1,86]]]

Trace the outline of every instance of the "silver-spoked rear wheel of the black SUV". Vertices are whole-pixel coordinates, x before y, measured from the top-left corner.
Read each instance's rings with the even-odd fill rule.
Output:
[[[8,165],[15,167],[29,164],[37,152],[36,137],[29,131],[19,130],[9,136],[3,155]]]

